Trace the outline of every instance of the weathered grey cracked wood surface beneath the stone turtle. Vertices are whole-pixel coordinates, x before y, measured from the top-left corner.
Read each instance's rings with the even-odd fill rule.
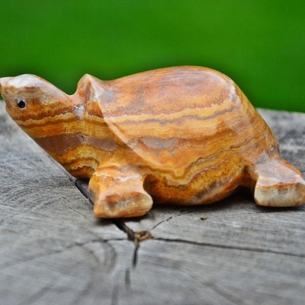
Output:
[[[260,112],[304,175],[305,114]],[[3,103],[0,157],[1,304],[304,302],[303,206],[262,208],[234,195],[95,220],[86,185],[69,179]]]

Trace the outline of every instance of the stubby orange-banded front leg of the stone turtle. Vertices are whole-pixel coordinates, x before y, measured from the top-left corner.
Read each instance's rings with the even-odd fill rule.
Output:
[[[153,199],[143,189],[145,175],[136,167],[98,167],[90,178],[88,191],[97,218],[145,215]]]

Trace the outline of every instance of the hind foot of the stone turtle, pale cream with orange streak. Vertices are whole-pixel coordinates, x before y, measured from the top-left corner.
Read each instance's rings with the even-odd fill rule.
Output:
[[[258,205],[305,204],[305,181],[300,171],[281,157],[252,166],[250,174],[255,182],[252,192]]]

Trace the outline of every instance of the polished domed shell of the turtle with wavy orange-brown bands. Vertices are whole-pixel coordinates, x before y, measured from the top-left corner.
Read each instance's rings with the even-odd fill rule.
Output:
[[[209,171],[222,163],[242,168],[278,146],[238,86],[208,68],[164,68],[109,81],[99,104],[109,128],[142,163],[173,179],[192,176],[196,164]]]

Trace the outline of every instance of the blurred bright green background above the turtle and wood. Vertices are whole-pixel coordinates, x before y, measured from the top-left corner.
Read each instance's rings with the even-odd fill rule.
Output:
[[[1,1],[0,77],[37,74],[72,94],[177,65],[219,70],[256,107],[305,112],[305,2]]]

